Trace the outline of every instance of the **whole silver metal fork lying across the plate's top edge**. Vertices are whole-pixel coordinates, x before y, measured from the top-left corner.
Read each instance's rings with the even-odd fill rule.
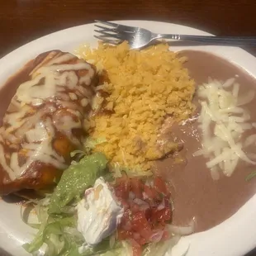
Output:
[[[256,46],[256,36],[193,36],[178,34],[157,34],[145,28],[135,26],[124,26],[110,21],[98,21],[101,25],[95,25],[94,30],[99,34],[95,36],[104,42],[118,45],[128,41],[131,49],[139,49],[149,45],[154,40],[183,40],[197,42],[204,45],[230,45],[230,46]]]

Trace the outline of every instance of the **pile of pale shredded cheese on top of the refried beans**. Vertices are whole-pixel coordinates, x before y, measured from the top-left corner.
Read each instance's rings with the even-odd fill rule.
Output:
[[[243,151],[240,139],[245,130],[252,129],[249,112],[244,109],[254,98],[254,92],[249,92],[239,100],[239,84],[235,78],[225,83],[210,80],[198,88],[201,99],[201,114],[198,118],[202,131],[202,148],[194,156],[203,155],[209,159],[207,168],[211,169],[212,178],[219,178],[219,170],[226,176],[231,176],[239,159],[249,164],[256,164]],[[253,96],[253,97],[252,97]],[[255,135],[249,140],[256,139]],[[255,140],[254,140],[255,141]],[[245,140],[245,144],[252,141]]]

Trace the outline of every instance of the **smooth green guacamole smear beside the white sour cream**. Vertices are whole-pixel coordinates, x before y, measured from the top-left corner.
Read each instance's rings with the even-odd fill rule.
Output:
[[[107,158],[102,153],[85,156],[80,162],[73,162],[60,178],[50,198],[49,213],[69,213],[71,202],[78,202],[82,193],[92,186],[106,169]]]

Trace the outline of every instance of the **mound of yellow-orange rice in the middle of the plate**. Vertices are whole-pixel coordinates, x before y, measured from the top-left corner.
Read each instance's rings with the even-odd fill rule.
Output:
[[[114,113],[94,118],[92,139],[107,140],[94,150],[105,153],[112,164],[149,169],[164,119],[173,116],[181,121],[194,110],[195,87],[183,68],[184,59],[165,44],[129,50],[126,43],[99,43],[95,50],[81,47],[78,55],[95,64],[99,73],[105,69],[110,79],[102,88],[109,93],[107,107]]]

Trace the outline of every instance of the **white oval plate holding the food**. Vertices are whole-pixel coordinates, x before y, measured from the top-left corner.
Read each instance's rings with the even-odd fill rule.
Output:
[[[180,33],[209,35],[187,26],[155,22],[155,21],[116,21],[130,26],[141,26],[158,33]],[[0,59],[0,85],[26,61],[36,57],[46,50],[66,50],[73,52],[78,45],[89,43],[96,45],[93,38],[93,24],[76,26],[59,31],[49,36],[34,40],[21,48],[12,51]],[[241,66],[256,77],[256,58],[244,50],[225,46],[192,46],[173,47],[172,50],[206,50],[225,57],[231,62]],[[0,247],[13,255],[26,256],[21,244],[30,241],[35,232],[22,223],[20,206],[0,201]],[[206,209],[207,211],[207,209]],[[206,232],[190,235],[183,238],[173,250],[173,256],[190,248],[187,256],[240,256],[254,249],[256,246],[256,196],[249,200],[234,216],[222,224]]]

